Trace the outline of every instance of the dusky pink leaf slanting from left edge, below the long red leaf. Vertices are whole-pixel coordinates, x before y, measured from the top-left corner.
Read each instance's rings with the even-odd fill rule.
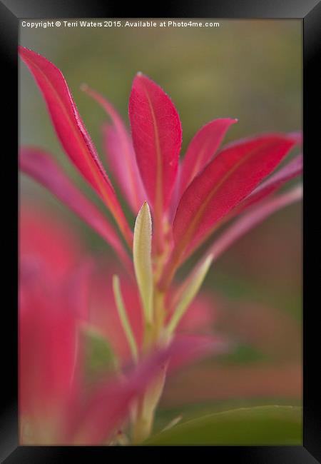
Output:
[[[131,261],[116,231],[106,221],[101,211],[73,186],[73,183],[49,153],[32,146],[23,147],[19,153],[19,167],[21,171],[48,188],[51,193],[54,193],[54,196],[88,223],[94,231],[115,249],[121,261],[129,269],[132,269]]]

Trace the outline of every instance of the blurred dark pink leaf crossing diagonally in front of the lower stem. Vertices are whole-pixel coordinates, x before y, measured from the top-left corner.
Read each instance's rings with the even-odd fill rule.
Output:
[[[169,360],[170,370],[175,370],[218,346],[220,342],[211,337],[184,336],[173,341],[168,348],[160,348],[148,355],[126,376],[107,380],[83,405],[71,398],[69,420],[63,433],[66,443],[103,443],[126,419],[133,400],[143,393],[148,383],[165,368]]]

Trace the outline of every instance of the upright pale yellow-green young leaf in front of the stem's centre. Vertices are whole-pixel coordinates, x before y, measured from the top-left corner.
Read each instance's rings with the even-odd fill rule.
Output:
[[[145,202],[138,213],[133,236],[133,262],[146,321],[153,319],[153,270],[151,263],[151,212]]]

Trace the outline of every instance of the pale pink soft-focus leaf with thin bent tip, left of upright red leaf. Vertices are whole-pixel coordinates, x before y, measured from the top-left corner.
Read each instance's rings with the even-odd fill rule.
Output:
[[[131,138],[121,116],[108,100],[98,92],[89,89],[85,84],[81,86],[81,89],[93,97],[111,118],[111,124],[106,123],[103,127],[103,141],[108,166],[133,212],[137,214],[143,201],[146,200],[146,193],[141,181],[141,174],[138,171]]]

